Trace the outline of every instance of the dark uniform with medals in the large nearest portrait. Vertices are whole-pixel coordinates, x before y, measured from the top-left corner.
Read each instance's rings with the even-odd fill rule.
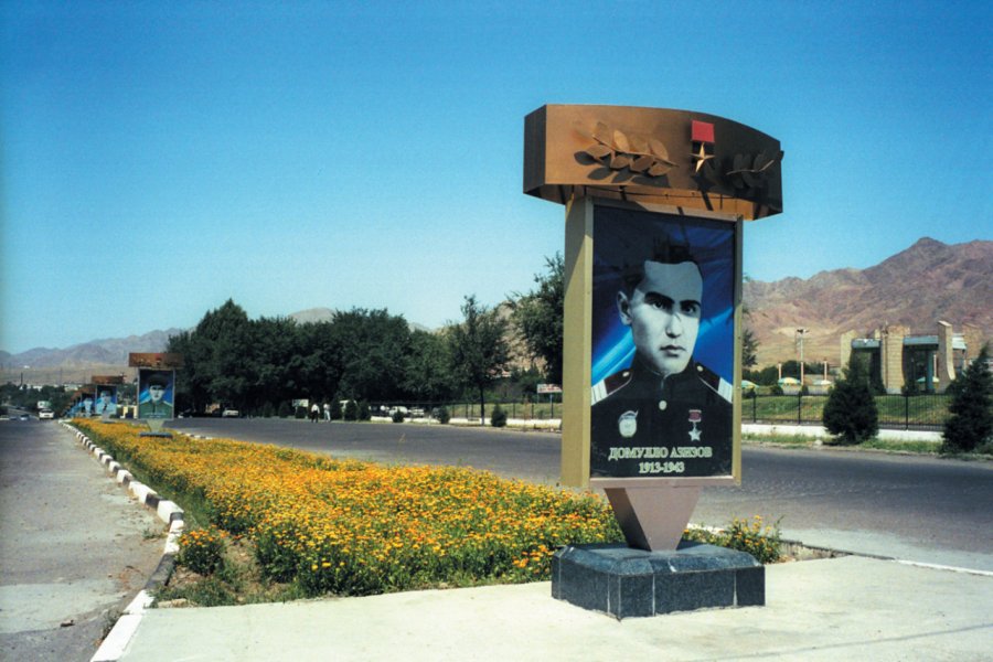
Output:
[[[590,474],[729,474],[732,397],[730,384],[695,361],[663,378],[636,355],[592,388]]]

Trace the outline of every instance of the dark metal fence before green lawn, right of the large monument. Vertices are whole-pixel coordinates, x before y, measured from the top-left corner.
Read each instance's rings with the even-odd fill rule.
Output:
[[[879,426],[905,430],[940,430],[951,396],[943,394],[877,395]],[[741,403],[743,423],[819,425],[826,395],[757,395]]]

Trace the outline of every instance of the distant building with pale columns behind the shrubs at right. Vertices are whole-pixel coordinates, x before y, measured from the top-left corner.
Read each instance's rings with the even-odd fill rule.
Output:
[[[911,334],[906,327],[885,325],[869,338],[850,331],[841,338],[841,364],[847,365],[852,353],[864,352],[886,393],[900,393],[904,387],[941,393],[965,369],[969,345],[965,335],[953,333],[948,322],[939,321],[936,331]]]

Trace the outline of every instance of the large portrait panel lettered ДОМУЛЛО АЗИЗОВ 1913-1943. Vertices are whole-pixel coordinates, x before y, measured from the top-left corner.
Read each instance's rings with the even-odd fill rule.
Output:
[[[594,213],[590,477],[727,477],[740,224]]]

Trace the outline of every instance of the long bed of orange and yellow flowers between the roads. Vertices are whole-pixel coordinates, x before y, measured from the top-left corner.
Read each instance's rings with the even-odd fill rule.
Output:
[[[623,540],[609,505],[467,468],[385,467],[228,439],[76,421],[157,489],[205,503],[263,570],[308,595],[549,578],[564,544]]]

